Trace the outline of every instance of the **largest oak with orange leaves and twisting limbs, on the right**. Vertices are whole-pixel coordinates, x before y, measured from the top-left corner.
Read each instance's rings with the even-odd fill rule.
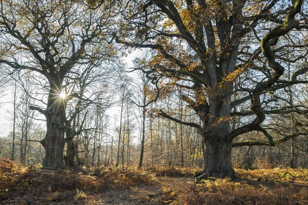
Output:
[[[270,95],[307,83],[301,77],[308,70],[303,7],[303,0],[130,0],[119,9],[115,41],[156,51],[150,69],[143,71],[154,84],[163,77],[182,88],[182,100],[200,118],[201,123],[183,121],[159,111],[202,135],[204,170],[197,180],[235,177],[233,145],[260,145],[259,141],[233,144],[241,134],[257,130],[268,139],[264,144],[275,145],[262,128],[266,115],[295,109],[268,109],[279,100],[269,100]],[[286,63],[292,66],[290,80],[284,76]],[[240,95],[235,97],[236,93]],[[243,115],[233,112],[240,105],[250,107],[245,113],[249,117],[232,127],[231,121]]]

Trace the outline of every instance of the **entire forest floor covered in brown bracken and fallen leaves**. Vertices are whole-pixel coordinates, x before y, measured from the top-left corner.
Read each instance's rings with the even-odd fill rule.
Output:
[[[1,166],[0,160],[0,204],[308,204],[307,169],[236,169],[235,180],[196,184],[192,174],[198,170],[188,168],[52,171],[14,165],[5,175]]]

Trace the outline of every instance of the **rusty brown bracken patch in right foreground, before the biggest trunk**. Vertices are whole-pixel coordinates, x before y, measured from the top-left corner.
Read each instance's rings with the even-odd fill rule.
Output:
[[[298,185],[251,183],[246,180],[206,180],[184,183],[178,189],[165,188],[171,204],[307,204],[308,189]],[[176,196],[176,197],[175,197]]]

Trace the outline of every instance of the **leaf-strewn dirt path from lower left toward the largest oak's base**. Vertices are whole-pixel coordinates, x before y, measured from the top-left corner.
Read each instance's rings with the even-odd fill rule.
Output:
[[[54,201],[46,201],[46,195],[40,195],[35,192],[14,191],[4,193],[0,196],[0,204],[110,204],[110,205],[134,205],[147,204],[156,205],[163,204],[162,187],[184,186],[191,178],[185,177],[157,177],[158,182],[151,185],[138,185],[124,189],[108,189],[101,193],[85,192],[87,197],[82,199],[73,199],[75,192],[64,191],[59,192],[57,199]]]

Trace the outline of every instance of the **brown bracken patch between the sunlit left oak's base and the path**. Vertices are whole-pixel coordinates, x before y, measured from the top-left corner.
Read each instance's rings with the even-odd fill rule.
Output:
[[[16,189],[31,187],[37,192],[47,191],[50,188],[59,191],[79,189],[98,193],[106,189],[129,188],[140,183],[149,184],[155,181],[157,179],[154,174],[132,167],[127,170],[112,166],[56,171],[33,169]]]

